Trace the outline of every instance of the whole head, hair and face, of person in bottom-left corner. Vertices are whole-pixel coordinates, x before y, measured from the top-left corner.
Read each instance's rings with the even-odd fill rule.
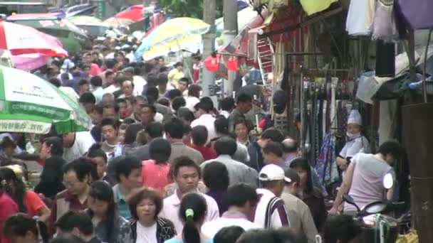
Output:
[[[11,243],[38,243],[38,225],[32,217],[18,213],[9,217],[4,222],[4,236],[11,240]]]

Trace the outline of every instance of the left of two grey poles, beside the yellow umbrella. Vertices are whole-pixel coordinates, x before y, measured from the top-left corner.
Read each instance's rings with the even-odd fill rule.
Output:
[[[215,1],[221,0],[204,0],[203,3],[203,21],[211,26],[209,32],[203,35],[203,58],[209,57],[215,50]],[[202,73],[203,95],[210,97],[209,86],[215,85],[214,72],[203,67]],[[212,97],[212,100],[216,102],[216,97]]]

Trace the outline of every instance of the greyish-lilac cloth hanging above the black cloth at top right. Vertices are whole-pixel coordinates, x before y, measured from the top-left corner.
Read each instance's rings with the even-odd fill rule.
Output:
[[[372,24],[372,38],[387,43],[398,41],[394,0],[377,0],[375,18]]]

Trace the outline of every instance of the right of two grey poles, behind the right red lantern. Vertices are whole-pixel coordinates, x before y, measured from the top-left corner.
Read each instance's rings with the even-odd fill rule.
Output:
[[[234,0],[224,0],[224,45],[228,45],[238,34],[238,4]],[[231,97],[236,71],[228,71],[228,80],[224,80],[224,96]]]

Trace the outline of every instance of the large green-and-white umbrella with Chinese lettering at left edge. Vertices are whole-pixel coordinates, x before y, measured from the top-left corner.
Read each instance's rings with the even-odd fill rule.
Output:
[[[88,131],[91,119],[77,102],[46,80],[0,66],[0,131],[47,134]]]

